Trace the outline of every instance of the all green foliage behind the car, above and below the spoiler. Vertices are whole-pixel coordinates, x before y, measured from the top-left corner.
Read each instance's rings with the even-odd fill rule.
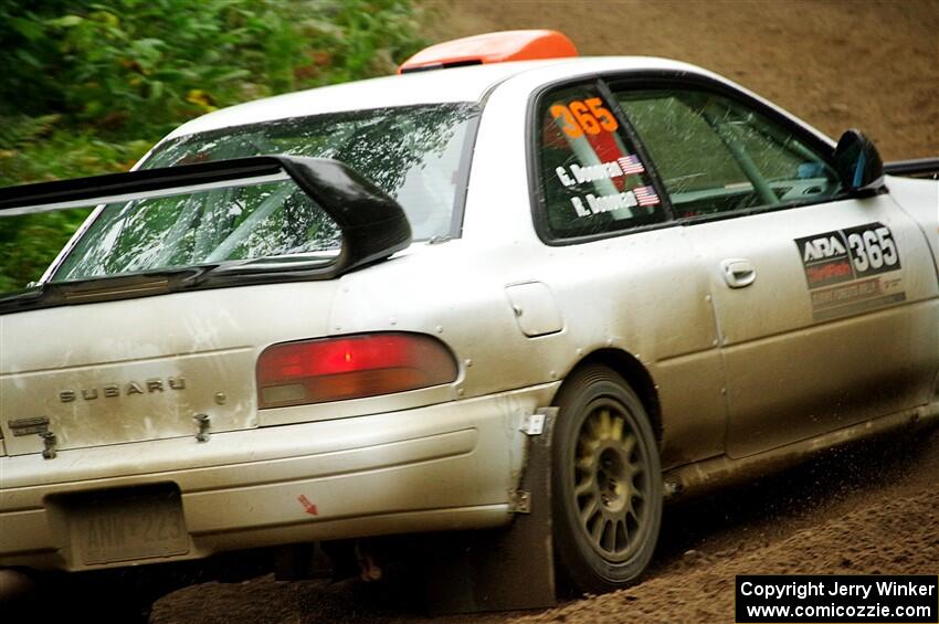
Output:
[[[126,170],[191,117],[392,73],[418,18],[411,0],[0,0],[0,187]],[[0,292],[80,222],[0,219]]]

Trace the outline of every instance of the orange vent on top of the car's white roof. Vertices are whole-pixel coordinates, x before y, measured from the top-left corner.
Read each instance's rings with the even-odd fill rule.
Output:
[[[506,30],[431,45],[404,61],[398,73],[565,56],[577,56],[577,47],[563,33],[556,30]]]

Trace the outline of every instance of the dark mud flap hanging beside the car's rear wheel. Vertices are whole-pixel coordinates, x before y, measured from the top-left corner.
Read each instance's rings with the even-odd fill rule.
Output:
[[[429,543],[426,604],[432,615],[548,609],[556,604],[551,544],[551,434],[557,409],[539,410],[528,431],[515,519],[505,529],[439,536]],[[539,417],[540,421],[540,417]]]

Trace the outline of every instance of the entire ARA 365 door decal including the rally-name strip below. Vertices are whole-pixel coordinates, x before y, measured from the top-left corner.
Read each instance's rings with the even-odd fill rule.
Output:
[[[879,222],[795,239],[815,320],[858,314],[903,302],[900,255],[890,229]]]

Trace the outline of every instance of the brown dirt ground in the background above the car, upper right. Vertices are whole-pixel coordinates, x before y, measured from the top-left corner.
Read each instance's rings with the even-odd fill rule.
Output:
[[[437,0],[433,41],[549,28],[581,55],[687,61],[885,160],[939,156],[939,1]]]

